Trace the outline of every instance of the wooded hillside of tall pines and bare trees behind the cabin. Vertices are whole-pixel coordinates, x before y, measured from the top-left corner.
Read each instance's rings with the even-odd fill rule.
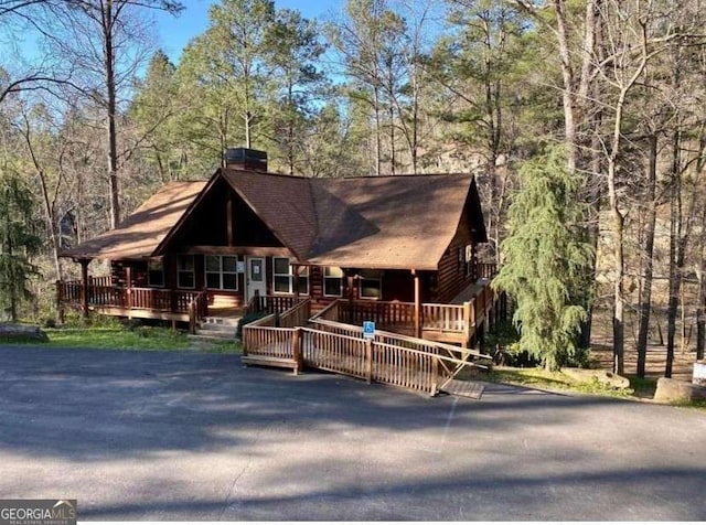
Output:
[[[302,176],[473,172],[500,262],[521,167],[559,154],[579,178],[569,231],[591,254],[563,293],[612,312],[616,371],[627,343],[644,357],[653,312],[672,355],[681,326],[703,356],[699,1],[349,0],[307,20],[222,0],[178,63],[154,42],[157,10],[189,17],[167,0],[0,0],[2,41],[42,42],[0,56],[1,311],[51,315],[53,282],[76,271],[62,248],[168,181],[208,178],[226,147]]]

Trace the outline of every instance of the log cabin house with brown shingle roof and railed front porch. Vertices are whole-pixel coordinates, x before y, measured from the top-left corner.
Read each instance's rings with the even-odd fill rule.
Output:
[[[404,303],[420,335],[422,303],[462,304],[493,272],[477,260],[486,234],[470,174],[312,179],[268,173],[254,150],[226,159],[210,180],[171,182],[65,250],[82,279],[57,282],[60,307],[193,329],[258,301],[281,310],[303,297],[313,312]],[[110,275],[88,276],[93,259],[109,260]]]

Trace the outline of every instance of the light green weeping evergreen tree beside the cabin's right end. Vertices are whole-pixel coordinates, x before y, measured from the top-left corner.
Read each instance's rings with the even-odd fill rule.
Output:
[[[576,336],[587,319],[579,298],[591,247],[580,240],[580,179],[565,165],[561,151],[553,150],[522,167],[510,234],[502,244],[504,264],[493,280],[516,302],[520,345],[550,369],[576,353]]]

